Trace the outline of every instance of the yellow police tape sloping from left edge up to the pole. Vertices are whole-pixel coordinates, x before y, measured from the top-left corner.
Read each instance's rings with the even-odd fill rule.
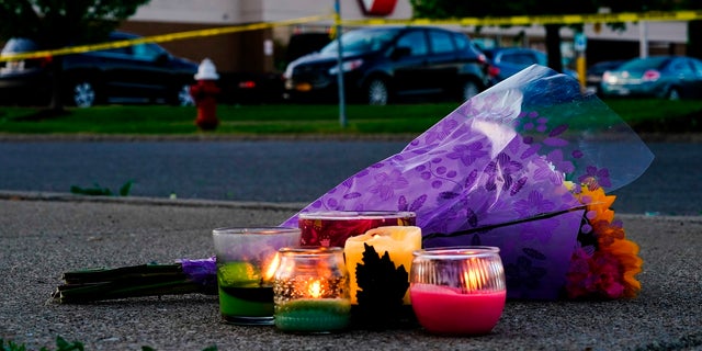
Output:
[[[27,59],[27,58],[42,58],[42,57],[48,57],[48,56],[106,50],[106,49],[127,47],[127,46],[133,46],[137,44],[145,44],[145,43],[165,43],[165,42],[182,41],[182,39],[190,39],[190,38],[196,38],[196,37],[203,37],[203,36],[214,36],[214,35],[223,35],[223,34],[230,34],[230,33],[237,33],[237,32],[248,32],[248,31],[256,31],[256,30],[267,30],[267,29],[272,29],[276,26],[288,26],[288,25],[296,25],[296,24],[320,22],[329,19],[333,19],[333,16],[332,15],[315,15],[315,16],[308,16],[308,18],[294,19],[294,20],[278,21],[278,22],[260,22],[260,23],[252,23],[252,24],[246,24],[246,25],[233,25],[233,26],[215,27],[215,29],[207,29],[207,30],[177,32],[177,33],[154,35],[154,36],[143,36],[134,39],[114,41],[109,43],[81,45],[81,46],[70,46],[70,47],[64,47],[64,48],[58,48],[53,50],[39,50],[39,52],[22,53],[22,54],[15,54],[15,55],[2,55],[0,56],[0,63],[9,61],[9,60]]]

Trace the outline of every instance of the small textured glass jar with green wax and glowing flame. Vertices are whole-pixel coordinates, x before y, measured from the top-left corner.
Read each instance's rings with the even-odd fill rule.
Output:
[[[349,278],[338,247],[280,250],[273,294],[275,326],[287,332],[327,333],[350,322]]]

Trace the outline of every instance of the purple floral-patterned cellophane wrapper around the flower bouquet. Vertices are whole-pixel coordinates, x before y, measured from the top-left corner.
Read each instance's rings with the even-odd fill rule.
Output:
[[[416,212],[424,247],[497,246],[508,297],[554,299],[584,215],[564,182],[612,191],[652,161],[641,138],[596,95],[534,65],[301,212]],[[297,225],[297,215],[282,225]]]

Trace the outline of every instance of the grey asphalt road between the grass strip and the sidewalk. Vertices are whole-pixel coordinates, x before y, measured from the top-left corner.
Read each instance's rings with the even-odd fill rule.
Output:
[[[4,141],[0,191],[113,191],[132,196],[308,203],[407,141]],[[702,144],[652,143],[648,171],[618,190],[630,214],[702,214]],[[622,157],[625,157],[623,155]]]

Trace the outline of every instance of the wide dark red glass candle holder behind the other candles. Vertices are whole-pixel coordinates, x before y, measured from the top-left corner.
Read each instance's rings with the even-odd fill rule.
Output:
[[[408,211],[325,211],[301,213],[301,245],[343,247],[352,236],[385,226],[414,226],[417,214]]]

